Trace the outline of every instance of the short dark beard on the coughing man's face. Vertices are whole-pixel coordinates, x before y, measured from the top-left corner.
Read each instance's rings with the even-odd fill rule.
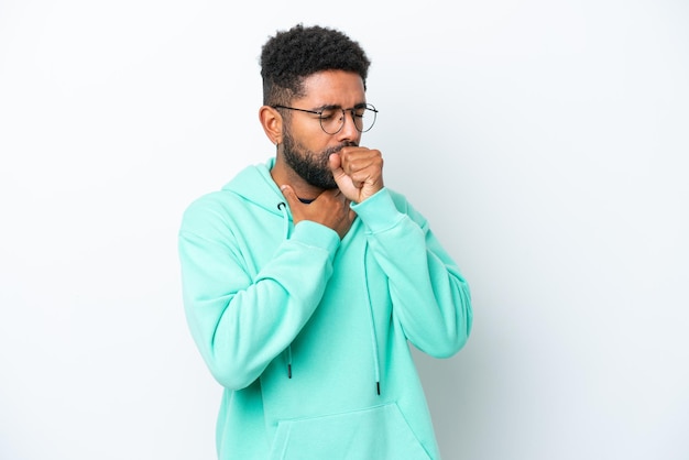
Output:
[[[298,141],[295,141],[288,130],[286,130],[283,136],[285,163],[307,184],[325,190],[337,188],[328,158],[331,154],[338,153],[342,147],[350,145],[357,144],[354,142],[346,142],[341,145],[326,149],[322,152],[313,152]]]

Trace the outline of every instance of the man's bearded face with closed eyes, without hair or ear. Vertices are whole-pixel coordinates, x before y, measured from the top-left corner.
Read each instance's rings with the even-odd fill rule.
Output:
[[[292,107],[319,111],[324,107],[349,109],[365,102],[363,81],[356,73],[327,70],[305,80],[306,96],[292,101]],[[287,165],[308,184],[324,189],[337,188],[328,166],[328,157],[348,145],[359,145],[361,133],[348,111],[344,125],[336,134],[327,134],[317,114],[293,110],[285,123],[283,154]]]

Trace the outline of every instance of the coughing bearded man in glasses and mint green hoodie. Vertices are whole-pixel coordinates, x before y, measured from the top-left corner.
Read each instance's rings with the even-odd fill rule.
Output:
[[[456,353],[469,288],[360,144],[369,65],[332,29],[271,37],[259,116],[275,157],[184,215],[185,311],[225,387],[220,459],[439,458],[407,341]]]

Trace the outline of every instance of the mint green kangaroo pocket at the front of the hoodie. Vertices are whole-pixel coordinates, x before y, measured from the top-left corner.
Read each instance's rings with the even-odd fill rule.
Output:
[[[282,420],[272,460],[428,460],[396,404]]]

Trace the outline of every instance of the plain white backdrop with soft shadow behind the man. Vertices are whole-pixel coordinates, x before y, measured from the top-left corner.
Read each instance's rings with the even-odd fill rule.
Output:
[[[0,0],[0,458],[211,460],[182,211],[273,147],[263,42],[373,61],[364,145],[467,276],[446,460],[689,458],[689,4]]]

